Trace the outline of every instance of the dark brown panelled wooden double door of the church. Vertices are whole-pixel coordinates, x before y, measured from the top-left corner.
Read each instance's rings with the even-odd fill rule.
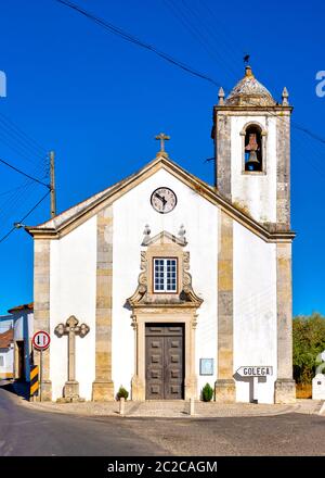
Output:
[[[146,400],[184,398],[184,327],[182,324],[145,326]]]

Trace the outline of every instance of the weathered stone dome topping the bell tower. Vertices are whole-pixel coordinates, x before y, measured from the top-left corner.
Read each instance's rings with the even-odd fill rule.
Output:
[[[232,89],[224,103],[230,106],[274,106],[276,104],[270,91],[256,79],[250,66],[246,66],[244,78]]]

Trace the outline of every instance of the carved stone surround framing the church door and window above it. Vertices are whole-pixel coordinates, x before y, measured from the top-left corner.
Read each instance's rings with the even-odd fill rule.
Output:
[[[195,329],[197,326],[197,310],[203,299],[196,294],[190,274],[190,252],[184,226],[181,226],[178,237],[162,230],[153,238],[148,226],[145,226],[141,251],[141,272],[138,287],[133,295],[127,299],[132,313],[134,329],[134,375],[132,377],[132,400],[145,400],[146,366],[145,366],[145,325],[181,324],[184,327],[184,398],[197,398],[197,377],[195,373]],[[154,260],[172,257],[178,264],[177,292],[154,292]]]

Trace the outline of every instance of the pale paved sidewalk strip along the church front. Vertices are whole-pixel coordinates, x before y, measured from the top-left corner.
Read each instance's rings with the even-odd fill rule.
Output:
[[[216,402],[195,402],[195,417],[240,417],[240,416],[274,416],[287,413],[318,414],[321,401],[297,400],[290,405],[233,403],[220,404]],[[65,413],[84,416],[119,416],[119,402],[83,402],[83,403],[53,403],[53,402],[26,402],[24,404],[32,410],[44,412]],[[161,418],[188,418],[190,402],[178,401],[146,401],[125,403],[126,417],[161,417]]]

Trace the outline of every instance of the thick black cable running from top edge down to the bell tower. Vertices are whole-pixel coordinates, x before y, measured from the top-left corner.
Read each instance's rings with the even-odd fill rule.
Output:
[[[164,51],[158,50],[156,47],[154,47],[153,45],[150,43],[145,43],[144,41],[140,40],[139,38],[134,37],[131,34],[128,34],[127,32],[122,30],[121,28],[113,25],[112,23],[108,23],[106,21],[104,21],[103,18],[100,18],[99,16],[93,15],[92,13],[88,12],[87,10],[81,9],[81,7],[72,3],[69,1],[65,1],[65,0],[55,0],[58,3],[62,3],[73,10],[75,10],[76,12],[81,13],[81,15],[87,16],[89,20],[95,22],[96,24],[99,24],[100,26],[104,27],[105,29],[108,29],[110,33],[113,33],[114,35],[119,36],[120,38],[122,38],[126,41],[129,41],[130,43],[134,43],[138,45],[139,47],[145,48],[146,50],[152,51],[153,53],[157,54],[158,56],[162,58],[164,60],[166,60],[167,62],[184,70],[185,72],[190,73],[191,75],[197,76],[202,79],[206,79],[207,81],[216,85],[216,86],[221,86],[220,83],[216,81],[213,78],[209,77],[208,75],[205,75],[204,73],[198,72],[197,70],[192,68],[192,66],[186,65],[185,63],[180,62],[179,60],[170,56],[168,53],[165,53]]]

